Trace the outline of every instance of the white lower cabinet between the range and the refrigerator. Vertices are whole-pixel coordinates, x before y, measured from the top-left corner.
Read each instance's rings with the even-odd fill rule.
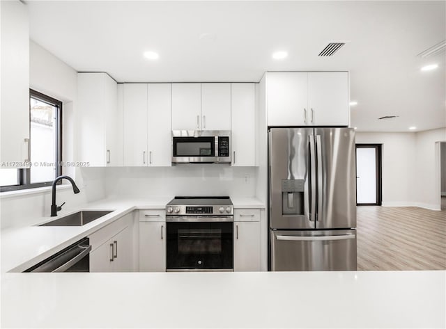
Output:
[[[234,271],[260,269],[260,210],[234,209]]]

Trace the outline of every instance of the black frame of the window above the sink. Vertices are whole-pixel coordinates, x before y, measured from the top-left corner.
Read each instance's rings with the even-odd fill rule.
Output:
[[[56,166],[56,170],[54,170],[54,179],[60,175],[62,175],[62,102],[45,95],[43,93],[39,93],[36,90],[29,89],[29,101],[31,101],[31,97],[43,101],[45,103],[51,104],[56,108],[56,147],[54,148],[56,151],[55,159],[58,165]],[[29,111],[31,113],[31,102],[29,102]],[[29,131],[31,133],[31,115],[29,119]],[[30,140],[30,143],[32,141]],[[31,147],[31,144],[30,144]],[[32,161],[32,159],[30,159]],[[0,192],[6,191],[17,191],[24,190],[28,188],[38,188],[45,186],[52,186],[54,182],[52,179],[49,182],[39,182],[39,183],[31,183],[31,168],[17,168],[17,182],[18,184],[0,186]],[[61,181],[57,182],[57,184],[62,184]]]

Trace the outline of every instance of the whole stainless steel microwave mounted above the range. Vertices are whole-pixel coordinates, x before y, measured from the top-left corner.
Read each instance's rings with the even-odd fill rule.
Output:
[[[231,131],[172,131],[172,163],[231,163]]]

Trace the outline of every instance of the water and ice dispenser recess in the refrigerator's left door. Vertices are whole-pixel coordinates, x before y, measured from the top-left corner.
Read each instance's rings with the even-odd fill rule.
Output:
[[[282,215],[304,214],[304,180],[282,179]]]

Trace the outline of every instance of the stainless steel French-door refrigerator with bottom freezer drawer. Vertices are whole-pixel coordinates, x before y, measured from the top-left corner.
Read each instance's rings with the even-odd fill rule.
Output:
[[[355,131],[270,128],[270,271],[356,270]]]

